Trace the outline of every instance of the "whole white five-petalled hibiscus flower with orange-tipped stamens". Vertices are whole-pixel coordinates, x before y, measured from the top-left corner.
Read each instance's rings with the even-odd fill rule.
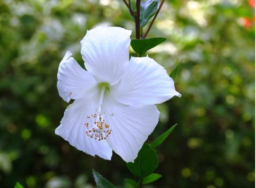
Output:
[[[59,65],[57,88],[66,101],[75,99],[55,133],[78,150],[111,159],[112,150],[130,162],[154,130],[154,104],[173,96],[174,82],[149,57],[129,60],[131,31],[97,27],[81,41],[85,71],[67,51]]]

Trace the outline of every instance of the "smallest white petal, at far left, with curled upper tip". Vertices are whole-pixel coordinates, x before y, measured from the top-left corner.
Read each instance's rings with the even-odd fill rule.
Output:
[[[76,60],[70,57],[70,51],[66,52],[59,64],[57,88],[59,96],[69,102],[71,98],[78,99],[90,96],[97,87],[94,77],[82,69]]]

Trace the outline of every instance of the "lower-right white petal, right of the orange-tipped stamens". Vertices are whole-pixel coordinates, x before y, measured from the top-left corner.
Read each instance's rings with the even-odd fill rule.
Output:
[[[106,114],[105,122],[112,130],[107,142],[126,162],[133,162],[143,143],[156,127],[160,112],[155,105],[131,107],[105,99],[102,108]]]

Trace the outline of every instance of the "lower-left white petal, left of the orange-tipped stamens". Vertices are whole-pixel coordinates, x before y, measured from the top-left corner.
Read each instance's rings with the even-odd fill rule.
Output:
[[[86,135],[88,129],[84,123],[88,122],[87,116],[96,113],[95,109],[98,105],[97,99],[99,98],[93,97],[91,99],[75,100],[74,103],[67,107],[61,124],[55,130],[55,134],[61,136],[78,150],[92,156],[98,155],[103,159],[110,160],[112,149],[109,147],[106,140],[98,141]]]

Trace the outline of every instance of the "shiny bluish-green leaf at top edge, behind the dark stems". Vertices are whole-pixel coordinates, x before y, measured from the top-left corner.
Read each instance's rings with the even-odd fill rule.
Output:
[[[136,0],[131,3],[131,9],[136,11]],[[140,2],[140,28],[143,28],[147,21],[154,16],[159,8],[160,0],[144,0]],[[131,16],[135,22],[135,18]]]

